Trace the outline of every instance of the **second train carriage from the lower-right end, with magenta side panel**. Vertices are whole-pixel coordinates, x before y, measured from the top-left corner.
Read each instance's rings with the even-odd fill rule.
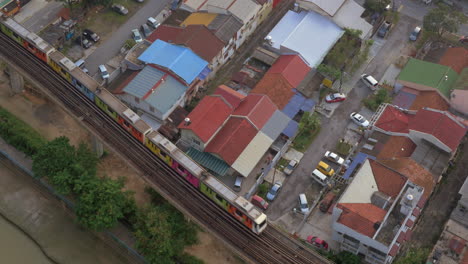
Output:
[[[200,165],[187,157],[183,151],[156,131],[146,136],[145,145],[198,189],[200,177],[204,172]]]

